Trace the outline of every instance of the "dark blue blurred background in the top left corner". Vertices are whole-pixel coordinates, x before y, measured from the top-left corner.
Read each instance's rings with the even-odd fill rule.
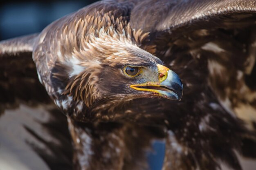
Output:
[[[8,0],[0,4],[0,40],[37,33],[97,0]]]

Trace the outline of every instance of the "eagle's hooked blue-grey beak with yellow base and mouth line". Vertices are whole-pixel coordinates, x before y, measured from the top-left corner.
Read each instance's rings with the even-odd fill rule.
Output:
[[[138,91],[150,91],[153,95],[180,101],[183,95],[183,85],[180,77],[169,68],[157,64],[159,82],[130,85]]]

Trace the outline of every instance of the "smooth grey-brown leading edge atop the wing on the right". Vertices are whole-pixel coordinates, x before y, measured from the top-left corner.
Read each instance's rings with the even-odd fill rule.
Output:
[[[145,32],[171,32],[220,24],[227,27],[223,22],[225,17],[232,15],[227,19],[235,21],[248,18],[255,12],[254,0],[144,0],[132,9],[130,22],[133,28]]]

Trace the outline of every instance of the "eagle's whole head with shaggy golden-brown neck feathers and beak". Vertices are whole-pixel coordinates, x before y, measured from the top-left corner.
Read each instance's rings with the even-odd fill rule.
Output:
[[[141,32],[126,25],[120,30],[95,29],[88,35],[77,35],[66,27],[62,34],[66,36],[59,36],[55,55],[50,55],[56,59],[49,74],[53,93],[48,93],[65,113],[80,115],[81,120],[99,117],[103,110],[108,113],[137,98],[181,99],[178,75],[139,48],[135,36],[146,37]]]

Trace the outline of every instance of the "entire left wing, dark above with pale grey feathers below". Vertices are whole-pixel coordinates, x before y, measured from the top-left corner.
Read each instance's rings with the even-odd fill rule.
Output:
[[[40,84],[37,34],[0,42],[0,164],[4,169],[71,169],[65,116]]]

